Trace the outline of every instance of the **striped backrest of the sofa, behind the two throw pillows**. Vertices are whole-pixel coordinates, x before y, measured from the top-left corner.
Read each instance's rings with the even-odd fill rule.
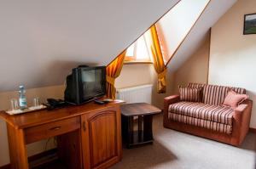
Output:
[[[245,94],[246,89],[241,87],[224,87],[218,85],[207,85],[200,83],[189,83],[188,87],[199,88],[202,87],[202,103],[222,105],[229,90],[232,89],[236,93]]]

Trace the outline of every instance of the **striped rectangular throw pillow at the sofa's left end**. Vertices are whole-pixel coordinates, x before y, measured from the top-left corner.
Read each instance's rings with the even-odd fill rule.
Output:
[[[187,102],[201,102],[202,88],[178,87],[180,99]]]

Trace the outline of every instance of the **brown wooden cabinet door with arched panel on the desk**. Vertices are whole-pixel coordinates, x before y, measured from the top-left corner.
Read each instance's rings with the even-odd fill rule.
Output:
[[[122,155],[119,106],[81,116],[84,169],[106,168]]]

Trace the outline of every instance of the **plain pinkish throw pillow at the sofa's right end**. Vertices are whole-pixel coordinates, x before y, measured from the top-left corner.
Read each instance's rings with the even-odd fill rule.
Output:
[[[230,90],[230,92],[227,94],[226,98],[224,99],[223,104],[230,106],[234,109],[245,99],[248,99],[248,96],[246,94],[239,94],[234,92],[233,90]]]

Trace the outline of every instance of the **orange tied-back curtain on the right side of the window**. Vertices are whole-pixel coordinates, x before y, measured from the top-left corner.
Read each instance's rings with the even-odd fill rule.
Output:
[[[160,48],[159,38],[157,36],[156,26],[150,27],[150,44],[152,52],[154,70],[158,74],[157,93],[166,93],[166,72],[167,68]]]

